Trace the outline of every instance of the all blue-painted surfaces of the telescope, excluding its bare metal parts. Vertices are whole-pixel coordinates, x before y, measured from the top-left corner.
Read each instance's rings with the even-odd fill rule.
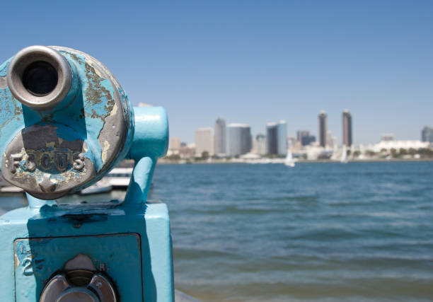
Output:
[[[95,74],[89,74],[93,71],[86,62],[88,57],[69,49],[60,52],[67,58],[74,78],[71,91],[56,108],[38,112],[21,105],[8,88],[0,89],[0,152],[24,127],[50,124],[55,125],[61,139],[86,142],[86,156],[100,171],[93,182],[125,157],[135,160],[133,177],[124,202],[62,205],[27,194],[29,207],[0,216],[0,301],[39,301],[52,274],[79,253],[90,256],[94,265],[110,277],[120,301],[173,301],[168,210],[165,204],[146,200],[156,161],[168,146],[166,111],[151,107],[132,110],[127,94],[114,78],[95,82]],[[0,75],[6,75],[7,67],[8,62],[0,66]],[[96,84],[105,91],[98,100],[86,95]],[[109,111],[106,105],[114,93],[122,99],[123,114],[129,117],[125,119],[127,134],[117,159],[103,169],[98,137]],[[79,108],[83,112],[77,112]],[[46,150],[53,148],[47,146]],[[49,172],[62,180],[54,170]],[[41,177],[37,172],[31,175]]]

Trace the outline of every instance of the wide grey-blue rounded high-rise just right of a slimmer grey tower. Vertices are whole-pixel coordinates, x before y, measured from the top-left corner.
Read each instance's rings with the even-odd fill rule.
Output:
[[[229,155],[239,156],[251,151],[251,129],[248,124],[229,124]]]

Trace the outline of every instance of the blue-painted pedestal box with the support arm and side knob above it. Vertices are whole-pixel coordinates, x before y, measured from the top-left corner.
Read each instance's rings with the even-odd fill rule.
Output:
[[[121,301],[141,301],[140,298],[173,301],[173,255],[167,207],[146,202],[156,159],[166,153],[168,119],[163,108],[135,108],[135,114],[139,129],[132,145],[139,150],[132,152],[137,164],[125,202],[105,201],[108,203],[98,206],[72,207],[28,195],[30,207],[0,217],[0,265],[4,267],[0,272],[4,280],[0,282],[0,301],[38,301],[47,279],[64,262],[83,252],[107,267],[106,273],[115,282]],[[118,234],[138,234],[139,247],[130,241],[127,246],[131,248],[122,248],[125,245],[120,244]],[[98,242],[100,239],[96,238],[100,236],[104,242]],[[13,256],[17,250],[18,260]],[[117,256],[108,257],[110,250],[115,250]],[[140,266],[125,266],[137,263],[134,256],[137,252]],[[141,268],[141,279],[132,279],[137,267]],[[139,285],[134,284],[137,281]]]

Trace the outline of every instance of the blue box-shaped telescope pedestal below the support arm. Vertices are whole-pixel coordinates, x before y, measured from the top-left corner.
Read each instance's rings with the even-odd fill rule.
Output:
[[[112,280],[122,301],[173,301],[166,204],[111,204],[44,205],[1,216],[0,301],[39,301],[47,280],[79,254]]]

